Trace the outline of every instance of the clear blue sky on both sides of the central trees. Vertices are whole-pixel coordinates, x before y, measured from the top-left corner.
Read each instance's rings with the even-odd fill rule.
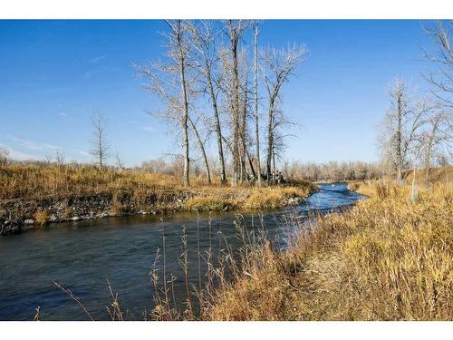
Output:
[[[174,152],[131,66],[161,58],[165,30],[162,21],[0,21],[0,146],[17,159],[59,148],[67,160],[91,161],[98,110],[127,165]],[[376,160],[386,85],[403,76],[426,88],[419,21],[266,21],[260,39],[310,50],[283,90],[284,112],[303,125],[288,141],[289,160]]]

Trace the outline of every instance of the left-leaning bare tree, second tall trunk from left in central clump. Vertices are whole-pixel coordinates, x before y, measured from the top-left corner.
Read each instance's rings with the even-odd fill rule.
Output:
[[[199,79],[202,83],[203,92],[209,97],[214,115],[214,131],[217,135],[217,153],[220,163],[220,182],[226,184],[225,157],[222,141],[222,128],[218,110],[219,76],[217,74],[217,54],[216,39],[217,33],[214,32],[212,22],[203,20],[198,25],[191,24],[190,34],[194,39],[195,62],[198,72],[203,76]],[[206,159],[206,158],[205,158]]]

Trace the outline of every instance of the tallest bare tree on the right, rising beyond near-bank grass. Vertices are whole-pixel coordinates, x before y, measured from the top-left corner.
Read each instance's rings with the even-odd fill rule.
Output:
[[[380,146],[382,155],[390,160],[396,180],[400,183],[402,171],[408,165],[410,152],[416,147],[418,133],[427,122],[427,114],[432,106],[426,99],[414,100],[402,79],[395,79],[388,92],[390,110],[382,122]]]

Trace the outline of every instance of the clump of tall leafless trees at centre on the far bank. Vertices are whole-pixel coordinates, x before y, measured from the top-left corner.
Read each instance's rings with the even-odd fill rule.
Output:
[[[255,21],[173,20],[167,24],[165,61],[137,68],[147,79],[146,88],[161,100],[163,109],[150,113],[178,133],[184,183],[189,184],[194,150],[201,154],[211,180],[207,143],[214,134],[221,182],[227,182],[226,158],[230,157],[233,185],[250,180],[261,184],[261,104],[267,106],[265,178],[275,180],[275,158],[285,137],[279,130],[289,122],[282,111],[281,89],[304,61],[304,46],[258,49],[259,23]],[[266,89],[265,98],[259,96],[258,83]],[[197,148],[192,148],[193,141]]]

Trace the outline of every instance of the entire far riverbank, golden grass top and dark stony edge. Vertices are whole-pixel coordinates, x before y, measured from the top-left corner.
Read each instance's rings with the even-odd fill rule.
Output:
[[[276,209],[298,204],[316,187],[306,181],[253,188],[207,185],[185,188],[175,176],[89,166],[0,167],[0,234],[49,223],[181,210]]]

